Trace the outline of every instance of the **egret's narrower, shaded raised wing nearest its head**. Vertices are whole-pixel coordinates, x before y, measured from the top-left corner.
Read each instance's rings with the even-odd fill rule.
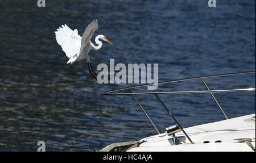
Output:
[[[93,33],[98,29],[98,20],[94,19],[92,23],[90,23],[84,31],[84,34],[82,35],[82,40],[81,40],[81,51],[84,49],[86,46],[90,45],[90,39],[92,38]],[[80,52],[81,52],[80,51]]]

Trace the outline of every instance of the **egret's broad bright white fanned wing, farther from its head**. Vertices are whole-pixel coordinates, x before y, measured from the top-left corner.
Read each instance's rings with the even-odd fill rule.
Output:
[[[71,30],[71,28],[65,24],[55,31],[55,36],[57,43],[61,46],[67,57],[71,58],[75,55],[79,55],[82,37],[78,35],[76,29]]]

